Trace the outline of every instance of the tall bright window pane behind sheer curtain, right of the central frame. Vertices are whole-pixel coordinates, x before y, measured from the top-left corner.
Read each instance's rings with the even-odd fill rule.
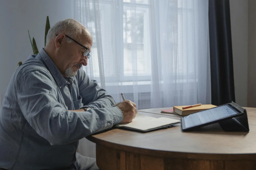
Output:
[[[131,14],[129,7],[124,6],[123,13],[123,42],[124,42],[124,76],[132,76],[132,50],[137,53],[137,74],[151,74],[149,16],[147,8],[136,7],[136,13]],[[133,16],[131,16],[133,15]],[[136,20],[136,21],[134,21]],[[131,22],[136,25],[136,35],[132,34]],[[134,37],[132,37],[134,36]],[[135,40],[136,41],[135,41]],[[132,42],[133,41],[133,42]],[[133,49],[132,49],[133,48]],[[146,51],[145,51],[146,49]],[[135,54],[134,54],[135,55]]]

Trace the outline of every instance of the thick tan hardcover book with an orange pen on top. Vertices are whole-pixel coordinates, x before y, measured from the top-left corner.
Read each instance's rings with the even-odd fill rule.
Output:
[[[181,116],[185,116],[185,115],[199,112],[201,110],[213,108],[216,106],[215,105],[201,105],[201,106],[191,107],[191,108],[187,108],[187,109],[182,109],[182,107],[185,107],[185,106],[173,106],[173,111],[175,113],[178,113]]]

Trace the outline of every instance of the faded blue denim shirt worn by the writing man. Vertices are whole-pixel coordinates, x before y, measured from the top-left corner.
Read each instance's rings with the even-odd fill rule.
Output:
[[[0,110],[0,168],[68,167],[78,140],[123,120],[113,98],[82,69],[64,78],[42,49],[13,74]],[[88,111],[73,112],[81,107]]]

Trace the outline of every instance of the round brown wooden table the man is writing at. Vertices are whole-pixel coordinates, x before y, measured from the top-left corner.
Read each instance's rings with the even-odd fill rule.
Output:
[[[148,133],[112,128],[87,139],[96,143],[96,163],[101,170],[255,170],[256,108],[245,108],[249,133],[224,132],[213,125],[182,132],[175,125]]]

